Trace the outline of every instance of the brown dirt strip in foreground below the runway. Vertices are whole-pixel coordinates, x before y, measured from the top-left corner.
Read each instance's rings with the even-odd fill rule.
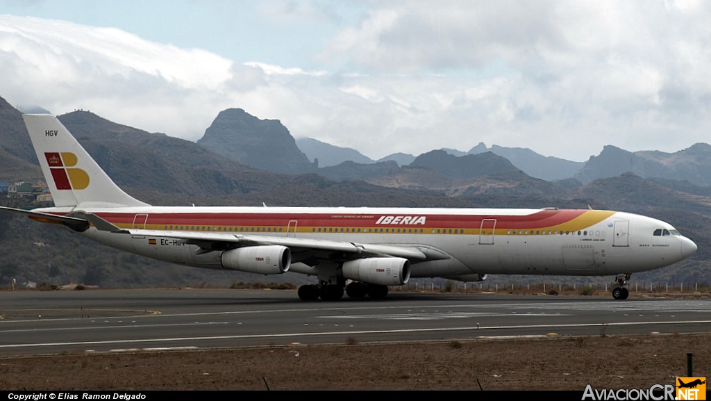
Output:
[[[0,390],[645,389],[711,373],[711,333],[0,357]]]

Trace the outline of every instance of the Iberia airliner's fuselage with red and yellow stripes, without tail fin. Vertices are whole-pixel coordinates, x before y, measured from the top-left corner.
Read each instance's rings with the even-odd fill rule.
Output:
[[[57,212],[58,209],[44,209]],[[74,209],[76,212],[76,209]],[[66,211],[65,211],[66,212]],[[479,274],[603,276],[674,264],[693,241],[658,219],[624,212],[558,209],[132,207],[91,212],[140,235],[83,235],[154,259],[223,269],[220,251],[158,233],[293,237],[428,249],[445,255],[412,261],[411,277]],[[658,233],[658,235],[655,235]],[[292,271],[314,273],[295,263]]]

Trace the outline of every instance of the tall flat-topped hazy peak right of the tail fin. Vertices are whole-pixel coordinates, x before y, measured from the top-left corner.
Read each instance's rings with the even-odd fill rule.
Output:
[[[284,174],[315,170],[279,120],[260,120],[241,108],[221,111],[197,143],[217,155],[261,170]]]

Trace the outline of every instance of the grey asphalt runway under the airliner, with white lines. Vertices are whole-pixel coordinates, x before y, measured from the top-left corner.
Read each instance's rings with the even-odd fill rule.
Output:
[[[708,298],[291,290],[0,291],[0,355],[711,331]]]

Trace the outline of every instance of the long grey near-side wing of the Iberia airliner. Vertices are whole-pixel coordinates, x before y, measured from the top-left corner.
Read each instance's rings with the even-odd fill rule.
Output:
[[[294,238],[290,236],[262,236],[228,234],[218,232],[192,231],[158,231],[145,229],[122,230],[133,236],[153,236],[159,238],[180,239],[186,244],[195,244],[204,251],[228,249],[230,247],[255,245],[282,245],[292,251],[338,251],[352,254],[354,258],[370,256],[392,256],[424,261],[431,259],[449,259],[446,254],[432,249],[421,249],[418,246],[401,246],[388,244],[358,244],[347,241],[328,241],[324,239]]]

